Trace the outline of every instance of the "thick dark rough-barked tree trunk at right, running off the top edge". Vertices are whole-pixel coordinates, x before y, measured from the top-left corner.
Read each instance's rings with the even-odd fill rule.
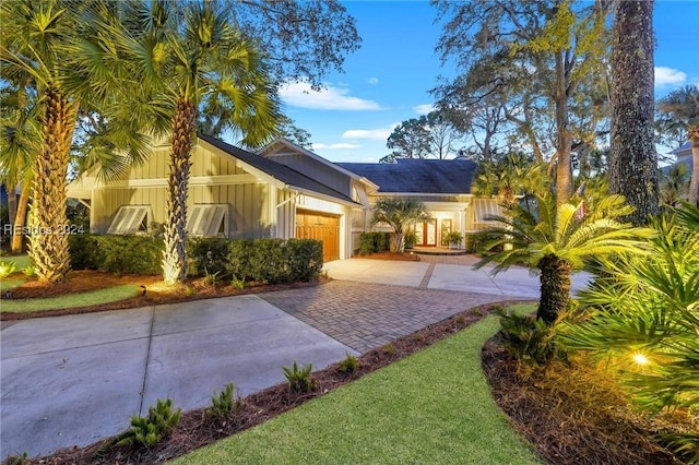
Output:
[[[616,3],[612,41],[609,190],[626,198],[635,226],[660,213],[653,141],[653,0]]]

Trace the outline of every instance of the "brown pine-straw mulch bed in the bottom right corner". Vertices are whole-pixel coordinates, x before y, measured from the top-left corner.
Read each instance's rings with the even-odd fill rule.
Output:
[[[691,431],[686,413],[650,418],[635,410],[614,379],[593,365],[576,362],[573,368],[552,362],[547,369],[522,373],[517,360],[497,344],[497,336],[483,347],[482,357],[494,400],[547,463],[687,463],[652,439]]]

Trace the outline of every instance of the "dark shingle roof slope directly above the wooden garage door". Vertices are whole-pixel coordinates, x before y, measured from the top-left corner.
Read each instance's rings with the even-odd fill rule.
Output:
[[[199,139],[210,143],[211,145],[222,150],[223,152],[232,155],[239,160],[247,163],[248,165],[259,169],[260,171],[266,172],[274,179],[279,179],[294,188],[299,188],[306,191],[316,192],[322,195],[331,196],[334,199],[342,200],[344,202],[354,202],[350,196],[339,192],[322,182],[319,182],[315,179],[309,178],[306,175],[303,175],[295,169],[289,168],[286,165],[282,165],[281,163],[276,163],[269,158],[265,158],[260,155],[252,154],[250,152],[244,151],[242,148],[236,147],[235,145],[226,144],[218,139],[214,139],[204,134],[197,134]]]

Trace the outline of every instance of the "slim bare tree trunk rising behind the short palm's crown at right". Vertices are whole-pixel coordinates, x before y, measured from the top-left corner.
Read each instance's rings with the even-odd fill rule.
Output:
[[[556,52],[556,205],[560,206],[572,196],[572,135],[568,128],[568,93],[566,87],[566,63],[564,50]]]

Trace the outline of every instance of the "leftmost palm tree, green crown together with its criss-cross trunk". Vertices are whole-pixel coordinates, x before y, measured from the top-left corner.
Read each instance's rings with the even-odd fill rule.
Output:
[[[75,39],[75,15],[59,0],[11,1],[0,7],[3,79],[28,74],[42,104],[42,143],[32,170],[33,233],[29,254],[42,282],[62,281],[70,270],[66,187],[78,100],[64,87],[70,70],[69,44]]]

